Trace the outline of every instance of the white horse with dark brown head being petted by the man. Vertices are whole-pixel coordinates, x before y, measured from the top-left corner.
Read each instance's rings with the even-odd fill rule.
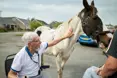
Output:
[[[67,38],[53,47],[48,47],[46,50],[46,52],[51,52],[56,58],[58,78],[62,78],[64,65],[73,52],[74,44],[80,34],[85,33],[93,39],[96,39],[99,32],[103,31],[103,23],[97,15],[97,8],[95,7],[94,1],[89,5],[87,0],[83,0],[83,6],[84,9],[68,21],[60,24],[53,33],[50,34],[51,31],[46,30],[42,31],[40,35],[41,41],[48,42],[62,37],[69,28],[73,29],[74,35],[71,38]]]

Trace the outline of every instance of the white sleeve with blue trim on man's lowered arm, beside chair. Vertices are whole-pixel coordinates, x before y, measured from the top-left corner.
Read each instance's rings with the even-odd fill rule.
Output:
[[[22,67],[22,56],[18,53],[16,54],[13,63],[11,65],[11,70],[13,70],[14,72],[19,72],[21,70]]]

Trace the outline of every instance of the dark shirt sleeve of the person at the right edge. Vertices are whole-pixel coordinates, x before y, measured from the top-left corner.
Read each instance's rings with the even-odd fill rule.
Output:
[[[110,47],[107,54],[117,58],[117,31],[115,31]]]

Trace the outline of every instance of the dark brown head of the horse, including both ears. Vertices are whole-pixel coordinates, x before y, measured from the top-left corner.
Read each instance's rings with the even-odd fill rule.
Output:
[[[103,31],[102,20],[97,15],[98,11],[95,7],[94,1],[89,5],[87,0],[83,0],[83,5],[84,9],[78,15],[82,22],[83,31],[87,36],[97,39],[99,32]]]

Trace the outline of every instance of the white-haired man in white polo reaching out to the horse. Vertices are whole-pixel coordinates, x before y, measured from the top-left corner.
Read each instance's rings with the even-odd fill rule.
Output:
[[[56,45],[60,41],[73,36],[71,28],[63,37],[53,40],[52,42],[41,42],[35,32],[26,32],[22,36],[25,46],[16,54],[8,78],[43,78],[40,69],[40,57],[47,47]]]

